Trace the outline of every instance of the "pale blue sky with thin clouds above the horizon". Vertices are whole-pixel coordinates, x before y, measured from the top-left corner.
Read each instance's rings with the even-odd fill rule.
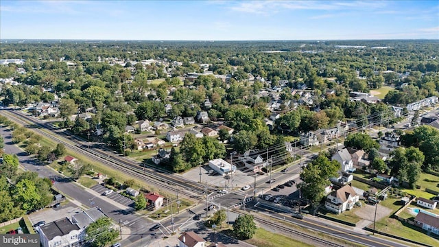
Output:
[[[0,38],[439,38],[439,1],[0,1]]]

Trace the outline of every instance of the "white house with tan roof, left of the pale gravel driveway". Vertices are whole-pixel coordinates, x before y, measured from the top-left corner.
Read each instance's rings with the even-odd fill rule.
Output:
[[[359,196],[355,193],[355,190],[351,185],[344,185],[340,189],[333,191],[327,197],[327,201],[324,207],[335,213],[342,213],[344,211],[353,209],[356,202],[358,202]]]

